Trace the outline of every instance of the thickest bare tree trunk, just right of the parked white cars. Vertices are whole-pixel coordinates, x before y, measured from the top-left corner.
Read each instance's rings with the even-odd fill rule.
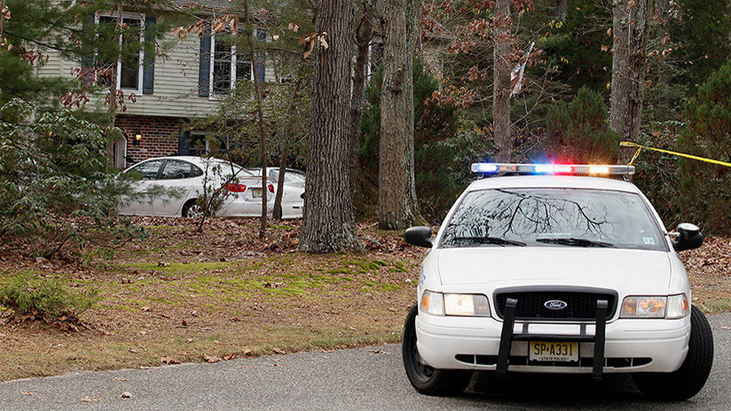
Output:
[[[303,252],[360,251],[350,190],[350,81],[354,0],[321,0],[307,147]]]

